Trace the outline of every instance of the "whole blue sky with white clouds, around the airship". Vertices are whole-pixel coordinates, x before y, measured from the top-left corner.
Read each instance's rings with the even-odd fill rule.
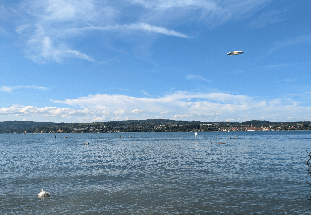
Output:
[[[0,1],[0,120],[309,121],[310,7]]]

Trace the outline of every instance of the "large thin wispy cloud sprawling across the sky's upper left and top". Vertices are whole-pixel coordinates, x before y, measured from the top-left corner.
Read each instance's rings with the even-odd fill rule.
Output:
[[[90,53],[87,47],[73,41],[98,34],[95,30],[105,32],[104,43],[116,36],[127,42],[139,40],[137,36],[150,38],[150,34],[190,38],[188,32],[179,32],[176,27],[191,22],[213,27],[227,20],[244,19],[266,2],[269,0],[35,0],[22,1],[18,7],[12,7],[14,10],[8,10],[9,5],[2,9],[14,15],[14,19],[10,19],[14,23],[11,21],[7,26],[16,26],[16,33],[23,40],[20,44],[24,44],[21,47],[35,62],[63,62],[65,58],[101,62],[103,60],[95,60],[95,56],[87,54]],[[127,12],[129,10],[131,13]],[[9,19],[5,21],[10,22]]]

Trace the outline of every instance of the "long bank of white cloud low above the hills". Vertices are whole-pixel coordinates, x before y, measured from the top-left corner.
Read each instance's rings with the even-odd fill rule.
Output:
[[[300,96],[307,98],[306,95]],[[0,108],[0,115],[33,116],[44,121],[46,118],[60,118],[67,119],[68,122],[146,118],[189,121],[311,120],[311,114],[308,114],[311,113],[311,107],[303,106],[304,101],[288,98],[269,100],[221,92],[177,91],[157,98],[96,94],[77,99],[51,101],[76,108],[12,106]]]

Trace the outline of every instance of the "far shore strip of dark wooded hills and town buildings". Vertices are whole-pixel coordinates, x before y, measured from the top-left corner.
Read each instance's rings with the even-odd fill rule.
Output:
[[[86,133],[86,132],[228,132],[228,131],[311,130],[310,121],[200,122],[170,119],[146,119],[93,123],[51,123],[33,121],[0,122],[0,133]]]

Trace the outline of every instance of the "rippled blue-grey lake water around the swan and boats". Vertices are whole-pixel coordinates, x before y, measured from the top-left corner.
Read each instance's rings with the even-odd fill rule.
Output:
[[[0,143],[2,215],[310,213],[310,131],[0,134]],[[38,197],[42,188],[50,197]]]

